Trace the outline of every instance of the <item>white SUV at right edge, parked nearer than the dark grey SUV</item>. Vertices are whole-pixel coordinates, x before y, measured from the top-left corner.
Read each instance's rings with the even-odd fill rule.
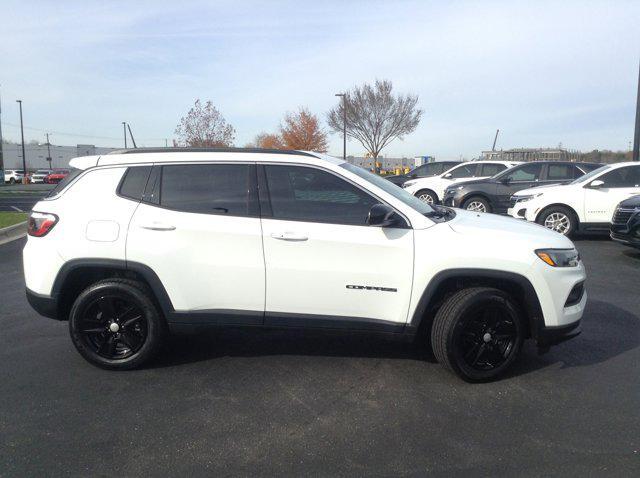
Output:
[[[524,189],[511,197],[508,214],[569,236],[608,231],[619,202],[640,194],[640,164],[602,166],[572,183]]]

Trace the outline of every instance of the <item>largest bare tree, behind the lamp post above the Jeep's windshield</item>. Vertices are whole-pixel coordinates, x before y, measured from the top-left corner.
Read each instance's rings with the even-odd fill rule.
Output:
[[[416,108],[418,95],[393,95],[389,80],[376,80],[375,85],[365,83],[345,93],[347,104],[347,136],[364,146],[377,158],[382,149],[394,139],[403,139],[413,132],[422,117]],[[329,128],[342,133],[344,103],[327,113]]]

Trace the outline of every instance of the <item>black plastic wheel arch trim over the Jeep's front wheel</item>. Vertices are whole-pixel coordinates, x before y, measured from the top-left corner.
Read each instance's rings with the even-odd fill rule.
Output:
[[[528,335],[538,337],[544,327],[540,299],[525,276],[493,269],[447,269],[437,273],[427,284],[407,326],[411,334],[428,334],[437,310],[455,292],[473,286],[503,290],[514,297],[525,314]],[[426,335],[428,336],[428,335]]]

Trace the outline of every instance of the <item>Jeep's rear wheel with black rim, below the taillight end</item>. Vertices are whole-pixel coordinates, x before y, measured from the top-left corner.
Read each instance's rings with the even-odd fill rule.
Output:
[[[150,361],[166,334],[151,291],[128,279],[105,279],[85,289],[69,314],[69,333],[88,362],[129,370]]]

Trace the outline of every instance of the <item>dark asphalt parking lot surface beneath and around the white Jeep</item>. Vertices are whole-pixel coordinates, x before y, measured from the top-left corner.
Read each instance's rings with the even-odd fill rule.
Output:
[[[24,297],[0,246],[0,475],[620,476],[640,473],[640,253],[576,241],[580,337],[469,385],[372,335],[213,331],[107,372]]]

